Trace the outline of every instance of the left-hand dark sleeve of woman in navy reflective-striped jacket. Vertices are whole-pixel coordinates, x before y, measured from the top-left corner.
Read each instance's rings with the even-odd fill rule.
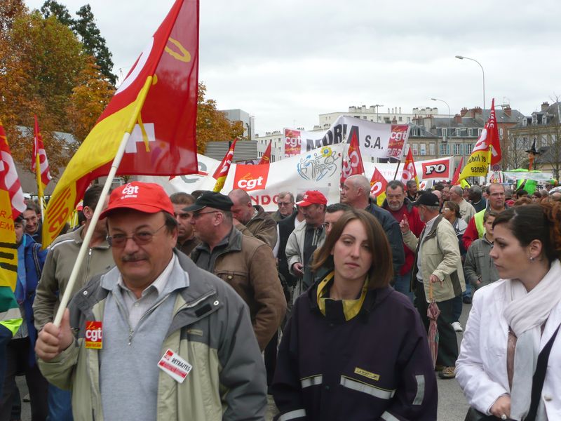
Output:
[[[298,364],[298,307],[302,298],[298,298],[288,324],[283,332],[276,357],[276,370],[271,389],[276,406],[280,411],[278,417],[295,421],[307,420],[302,387],[300,385]],[[287,417],[288,416],[288,417]],[[278,420],[278,417],[276,420]]]

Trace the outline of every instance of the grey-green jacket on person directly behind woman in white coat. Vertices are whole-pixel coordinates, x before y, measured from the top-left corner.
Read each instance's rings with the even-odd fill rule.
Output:
[[[464,274],[466,274],[466,282],[471,283],[475,289],[488,285],[499,279],[499,272],[496,272],[493,259],[489,255],[493,243],[489,243],[485,236],[471,243],[464,262]],[[478,284],[478,278],[481,276],[481,283]]]

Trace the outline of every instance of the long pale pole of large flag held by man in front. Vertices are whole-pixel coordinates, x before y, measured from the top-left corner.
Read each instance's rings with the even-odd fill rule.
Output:
[[[97,205],[95,206],[95,210],[93,211],[92,219],[90,220],[89,229],[86,231],[84,235],[82,245],[80,247],[80,251],[78,253],[78,257],[76,258],[76,262],[74,263],[74,267],[72,268],[72,272],[70,273],[70,278],[68,279],[68,283],[65,289],[64,295],[60,299],[60,306],[58,307],[57,314],[55,316],[55,321],[53,323],[55,326],[60,326],[60,321],[62,321],[62,316],[65,314],[65,309],[68,305],[70,300],[70,294],[72,293],[72,289],[74,288],[74,283],[76,283],[76,278],[78,277],[78,272],[83,262],[83,258],[86,257],[86,251],[90,248],[90,241],[93,236],[94,227],[97,224],[97,221],[100,220],[100,215],[102,212],[103,205],[105,203],[105,199],[107,198],[107,194],[109,194],[109,188],[113,183],[113,179],[117,173],[117,169],[119,169],[119,165],[121,164],[121,159],[123,159],[123,155],[125,154],[125,148],[128,142],[128,138],[130,138],[130,133],[133,131],[135,127],[138,114],[140,114],[140,110],[144,105],[144,100],[146,100],[146,96],[148,95],[149,88],[152,84],[152,76],[148,76],[146,82],[144,83],[144,87],[142,91],[140,91],[137,99],[137,105],[135,112],[133,112],[132,117],[128,123],[125,133],[123,134],[123,138],[121,139],[121,144],[119,145],[119,149],[117,149],[117,153],[115,158],[113,159],[113,163],[111,163],[111,170],[107,175],[107,180],[105,180],[105,184],[103,185],[103,189],[100,194],[100,199],[97,201]]]

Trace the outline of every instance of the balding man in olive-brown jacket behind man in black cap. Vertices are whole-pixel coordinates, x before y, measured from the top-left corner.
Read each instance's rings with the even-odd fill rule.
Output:
[[[243,190],[234,189],[228,196],[233,203],[232,216],[239,222],[234,221],[235,227],[244,235],[255,236],[271,249],[274,248],[277,238],[275,220],[265,213],[262,206],[252,206],[250,195]]]

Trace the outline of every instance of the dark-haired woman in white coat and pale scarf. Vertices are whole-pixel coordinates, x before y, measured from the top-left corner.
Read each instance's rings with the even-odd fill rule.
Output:
[[[475,293],[456,378],[473,408],[525,420],[536,361],[561,323],[561,203],[509,208],[493,227],[490,255],[501,279]],[[559,361],[561,335],[550,351],[538,421],[561,420]]]

